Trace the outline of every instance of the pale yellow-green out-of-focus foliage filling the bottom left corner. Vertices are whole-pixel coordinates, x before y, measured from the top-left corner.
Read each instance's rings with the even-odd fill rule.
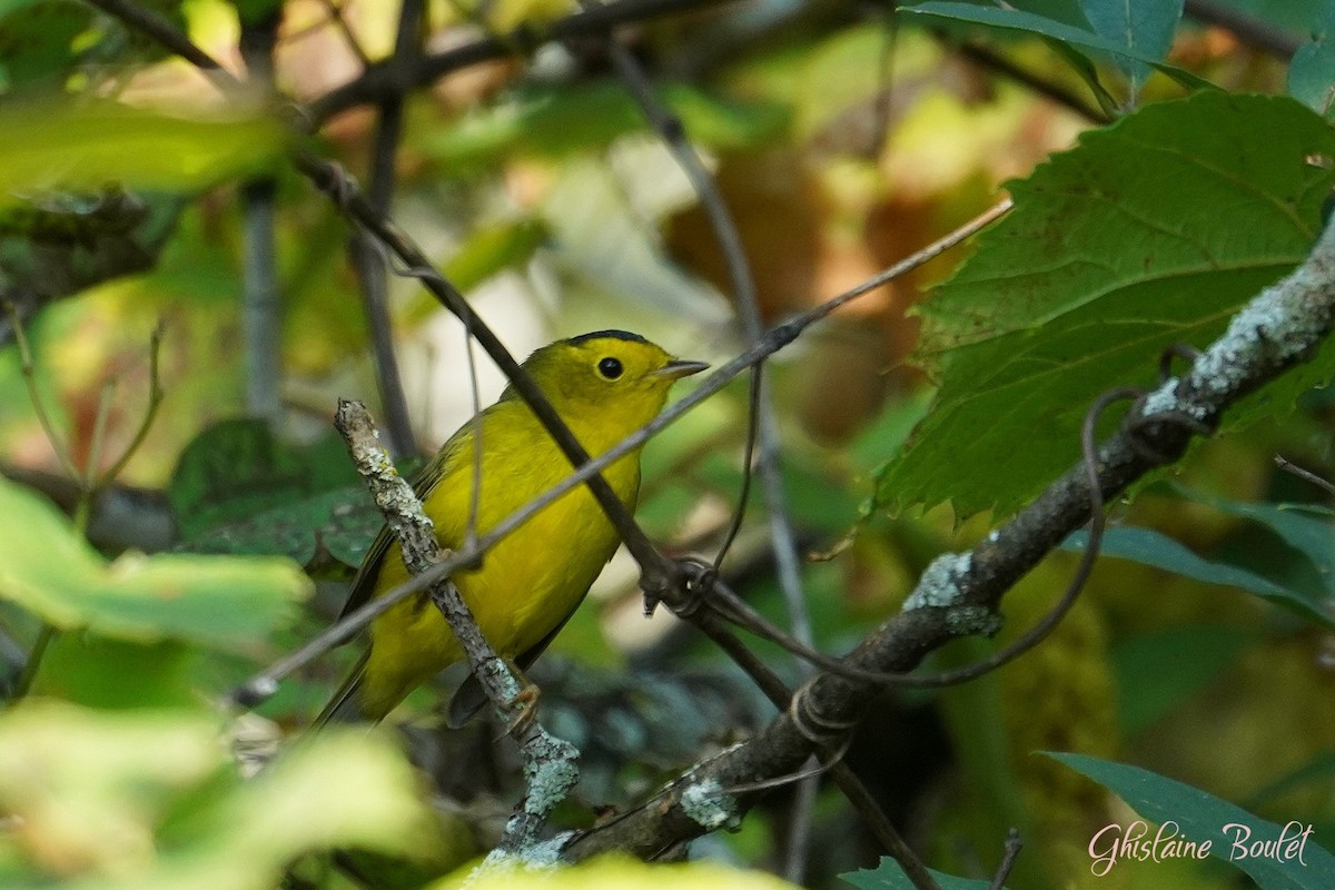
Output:
[[[378,735],[320,733],[243,781],[216,717],[32,701],[0,717],[7,886],[263,890],[303,853],[406,853],[429,825]]]

